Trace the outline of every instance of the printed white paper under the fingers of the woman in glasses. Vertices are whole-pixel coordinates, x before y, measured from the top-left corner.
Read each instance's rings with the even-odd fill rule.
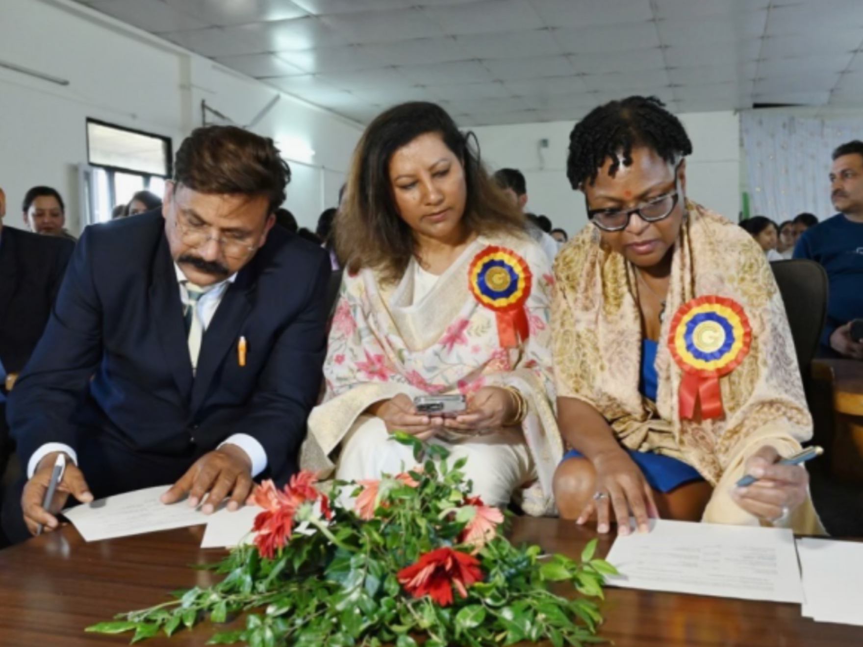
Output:
[[[742,600],[803,601],[794,535],[784,528],[651,520],[617,537],[606,558],[617,587]]]

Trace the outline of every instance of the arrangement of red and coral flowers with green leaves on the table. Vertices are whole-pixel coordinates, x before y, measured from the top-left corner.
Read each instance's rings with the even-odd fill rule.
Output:
[[[450,467],[444,448],[394,438],[412,444],[418,462],[425,452],[425,462],[380,481],[334,481],[329,493],[309,472],[282,490],[264,481],[253,494],[263,508],[254,543],[205,567],[224,580],[87,631],[134,631],[135,643],[246,612],[244,628],[216,633],[209,644],[603,642],[595,635],[602,618],[589,598],[601,598],[603,574],[616,571],[593,558],[595,541],[581,563],[513,546],[504,512],[470,495],[463,460]],[[348,487],[352,506],[344,507],[339,494]],[[555,594],[553,582],[570,582],[581,595]]]

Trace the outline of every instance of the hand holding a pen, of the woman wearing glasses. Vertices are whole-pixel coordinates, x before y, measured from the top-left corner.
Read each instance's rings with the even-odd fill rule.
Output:
[[[732,493],[738,506],[768,522],[785,518],[809,495],[809,472],[800,465],[779,465],[780,458],[771,445],[749,456],[743,471],[759,481]]]

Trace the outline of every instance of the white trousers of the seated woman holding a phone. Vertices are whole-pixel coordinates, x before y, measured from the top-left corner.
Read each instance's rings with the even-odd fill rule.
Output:
[[[473,493],[487,506],[507,506],[513,492],[536,479],[530,449],[521,430],[506,428],[464,443],[432,438],[430,443],[450,450],[447,462],[467,458],[463,472],[473,481]],[[413,449],[390,439],[387,425],[376,416],[360,416],[342,441],[336,478],[344,481],[380,479],[413,468]]]

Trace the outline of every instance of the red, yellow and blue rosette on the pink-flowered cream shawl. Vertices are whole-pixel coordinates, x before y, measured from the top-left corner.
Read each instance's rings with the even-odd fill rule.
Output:
[[[470,261],[468,285],[474,298],[494,311],[501,346],[518,346],[519,337],[527,339],[525,304],[531,294],[533,275],[530,267],[512,249],[489,245]]]

